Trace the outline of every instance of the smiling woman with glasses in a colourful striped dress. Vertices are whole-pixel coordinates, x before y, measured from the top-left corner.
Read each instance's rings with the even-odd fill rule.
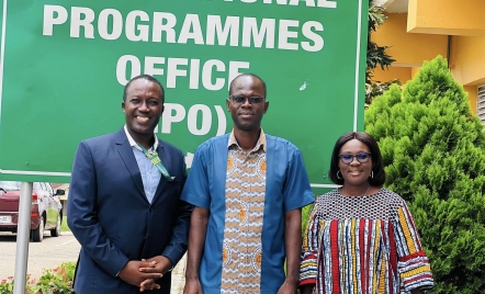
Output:
[[[406,202],[382,188],[381,151],[373,137],[351,132],[331,155],[329,177],[340,188],[319,196],[303,240],[301,293],[420,293],[431,289]]]

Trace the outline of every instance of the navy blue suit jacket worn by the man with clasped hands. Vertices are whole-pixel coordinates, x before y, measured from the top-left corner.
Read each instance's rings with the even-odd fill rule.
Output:
[[[160,139],[157,152],[176,178],[161,177],[150,204],[123,128],[79,144],[67,207],[69,227],[82,247],[76,293],[139,293],[116,276],[129,260],[166,256],[176,264],[185,252],[191,205],[180,200],[183,154]],[[150,293],[170,293],[170,279],[166,274],[158,281],[161,289]]]

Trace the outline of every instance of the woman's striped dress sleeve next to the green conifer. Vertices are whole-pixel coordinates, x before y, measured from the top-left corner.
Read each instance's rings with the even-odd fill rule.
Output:
[[[422,251],[413,216],[405,203],[397,208],[394,218],[394,238],[397,250],[397,270],[406,293],[427,290],[435,284],[428,257]]]

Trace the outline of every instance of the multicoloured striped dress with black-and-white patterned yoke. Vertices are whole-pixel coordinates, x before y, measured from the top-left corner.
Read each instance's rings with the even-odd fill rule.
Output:
[[[410,293],[431,289],[429,260],[406,202],[381,189],[369,196],[319,196],[305,230],[300,284],[314,293]]]

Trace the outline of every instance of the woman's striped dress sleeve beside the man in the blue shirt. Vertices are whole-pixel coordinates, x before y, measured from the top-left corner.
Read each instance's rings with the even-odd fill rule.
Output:
[[[318,236],[320,235],[320,219],[317,217],[317,210],[318,205],[315,202],[303,235],[300,285],[316,284],[317,281]]]

